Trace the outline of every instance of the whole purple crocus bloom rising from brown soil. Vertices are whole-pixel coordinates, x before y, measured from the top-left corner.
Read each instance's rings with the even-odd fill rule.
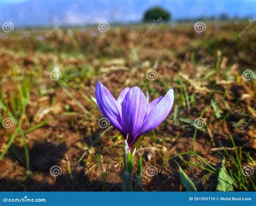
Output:
[[[100,112],[124,138],[128,138],[131,151],[139,136],[152,131],[165,120],[174,100],[173,90],[170,89],[164,97],[147,104],[143,91],[137,86],[125,87],[116,100],[100,82],[95,93]]]

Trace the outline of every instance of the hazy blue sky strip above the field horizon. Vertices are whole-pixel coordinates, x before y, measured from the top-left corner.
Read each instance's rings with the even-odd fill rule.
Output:
[[[256,18],[256,0],[0,0],[0,23],[16,26],[66,25],[98,22],[141,22],[152,6],[171,12],[172,20],[198,17]]]

